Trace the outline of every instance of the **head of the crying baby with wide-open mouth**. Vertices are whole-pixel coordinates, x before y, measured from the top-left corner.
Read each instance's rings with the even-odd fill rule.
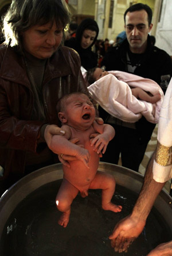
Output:
[[[56,110],[58,119],[64,125],[76,129],[88,129],[95,120],[96,110],[87,95],[81,92],[64,95],[58,100]]]

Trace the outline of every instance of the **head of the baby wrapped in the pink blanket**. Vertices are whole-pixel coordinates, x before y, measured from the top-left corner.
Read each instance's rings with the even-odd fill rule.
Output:
[[[89,84],[93,84],[93,82],[99,80],[101,77],[104,77],[108,74],[108,71],[100,69],[100,67],[93,67],[93,69],[89,69],[87,71],[87,81]]]

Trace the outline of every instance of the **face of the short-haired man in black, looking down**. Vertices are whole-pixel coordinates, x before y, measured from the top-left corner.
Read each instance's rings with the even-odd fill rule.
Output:
[[[130,50],[134,53],[143,53],[147,47],[147,35],[153,24],[148,25],[148,16],[145,10],[128,12],[125,29]]]

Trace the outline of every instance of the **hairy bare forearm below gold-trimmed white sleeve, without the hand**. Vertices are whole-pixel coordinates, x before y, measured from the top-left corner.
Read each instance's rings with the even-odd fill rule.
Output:
[[[132,216],[145,221],[154,205],[155,199],[165,185],[165,183],[155,182],[153,179],[154,155],[147,166],[142,189],[132,210]]]

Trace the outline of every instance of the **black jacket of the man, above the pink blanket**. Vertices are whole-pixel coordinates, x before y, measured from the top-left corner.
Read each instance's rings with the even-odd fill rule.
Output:
[[[120,47],[112,47],[105,54],[101,66],[105,66],[105,70],[127,70],[127,51],[129,44],[127,39]],[[151,46],[150,36],[147,37],[147,49],[140,61],[140,66],[136,67],[134,74],[150,78],[161,84],[161,76],[170,74],[172,76],[172,62],[169,54],[156,46]]]

